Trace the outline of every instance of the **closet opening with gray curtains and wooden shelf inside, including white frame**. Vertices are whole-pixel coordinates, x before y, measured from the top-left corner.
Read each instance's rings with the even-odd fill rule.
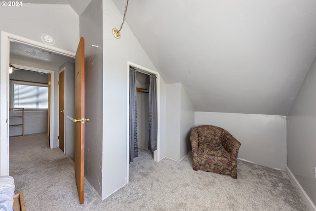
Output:
[[[127,66],[127,177],[139,151],[159,161],[159,74],[128,62]]]

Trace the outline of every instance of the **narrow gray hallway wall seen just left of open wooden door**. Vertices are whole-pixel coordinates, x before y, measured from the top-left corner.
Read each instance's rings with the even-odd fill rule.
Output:
[[[75,118],[75,64],[66,62],[65,68],[65,154],[75,159],[75,124],[67,116]],[[59,93],[59,92],[58,92]],[[59,127],[58,127],[59,128]]]

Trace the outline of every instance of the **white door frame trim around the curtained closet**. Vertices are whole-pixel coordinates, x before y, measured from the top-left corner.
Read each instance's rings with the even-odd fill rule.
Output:
[[[130,61],[127,61],[127,115],[126,115],[126,184],[129,182],[129,66],[133,66],[139,70],[139,72],[145,73],[145,74],[153,74],[157,77],[157,150],[154,151],[154,161],[159,162],[160,161],[160,75],[158,72],[150,70],[146,67],[142,67],[138,64],[134,64]]]

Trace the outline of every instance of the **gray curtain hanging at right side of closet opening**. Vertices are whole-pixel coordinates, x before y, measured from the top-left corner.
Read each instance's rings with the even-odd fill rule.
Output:
[[[157,83],[156,76],[149,76],[149,93],[148,93],[148,107],[149,107],[149,143],[148,149],[151,152],[157,150]]]

